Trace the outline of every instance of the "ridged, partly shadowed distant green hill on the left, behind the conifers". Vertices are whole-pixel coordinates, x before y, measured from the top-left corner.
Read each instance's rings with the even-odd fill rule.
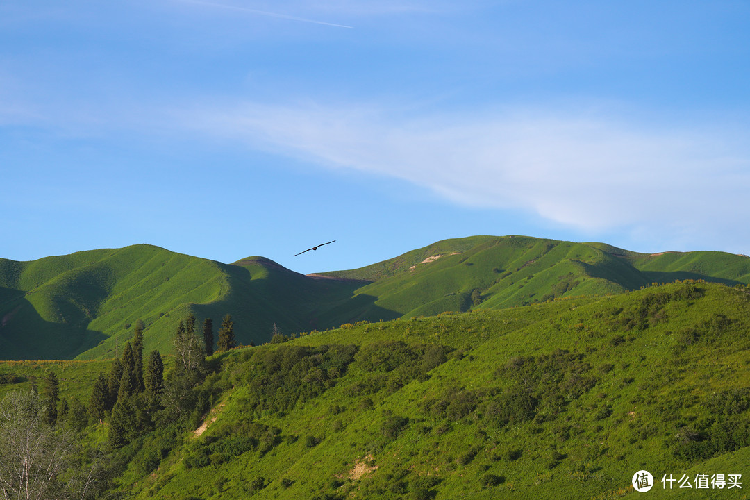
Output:
[[[243,263],[240,263],[243,264]],[[240,343],[315,328],[317,310],[351,295],[346,280],[315,280],[268,259],[224,265],[149,245],[33,262],[0,260],[0,358],[112,358],[145,324],[145,347],[168,352],[178,319],[231,314]],[[330,326],[330,325],[325,325]]]

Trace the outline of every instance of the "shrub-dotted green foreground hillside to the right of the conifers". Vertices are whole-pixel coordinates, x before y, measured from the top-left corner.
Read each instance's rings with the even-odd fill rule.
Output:
[[[639,495],[640,469],[746,480],[748,331],[748,289],[691,282],[236,349],[200,388],[205,432],[133,442],[118,484],[137,499],[614,499]]]

